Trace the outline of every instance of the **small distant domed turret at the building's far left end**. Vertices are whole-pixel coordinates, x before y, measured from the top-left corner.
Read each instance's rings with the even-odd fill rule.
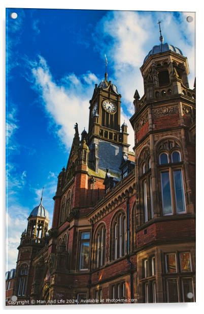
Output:
[[[48,233],[49,216],[43,206],[42,197],[40,204],[33,208],[27,220],[27,229],[22,233],[18,247],[14,294],[18,299],[29,300],[34,274],[33,259],[46,245]]]

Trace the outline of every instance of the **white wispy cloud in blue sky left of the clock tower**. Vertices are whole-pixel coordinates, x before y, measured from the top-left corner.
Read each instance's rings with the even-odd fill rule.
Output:
[[[81,132],[84,127],[88,127],[89,99],[98,79],[87,71],[81,76],[70,73],[57,83],[43,57],[38,62],[30,63],[30,66],[35,88],[44,100],[46,113],[55,123],[58,137],[69,149],[73,141],[74,124],[78,122]]]

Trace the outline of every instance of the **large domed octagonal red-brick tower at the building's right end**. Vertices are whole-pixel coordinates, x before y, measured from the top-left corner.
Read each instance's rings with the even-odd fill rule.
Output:
[[[145,92],[140,97],[135,91],[130,119],[135,133],[138,301],[193,302],[195,85],[189,88],[187,58],[181,49],[163,43],[161,30],[160,44],[149,51],[141,73]],[[172,263],[175,268],[169,270]],[[140,280],[152,275],[152,281]]]

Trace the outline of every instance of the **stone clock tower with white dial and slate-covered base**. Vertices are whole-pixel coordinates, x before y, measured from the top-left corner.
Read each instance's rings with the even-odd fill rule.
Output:
[[[121,95],[117,87],[108,81],[108,74],[95,89],[90,102],[89,167],[100,175],[109,169],[115,176],[121,175],[119,167],[128,159],[127,126],[120,126]]]

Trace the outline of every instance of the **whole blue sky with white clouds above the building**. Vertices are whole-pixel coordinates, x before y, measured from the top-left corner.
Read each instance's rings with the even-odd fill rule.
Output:
[[[10,14],[18,17],[12,19]],[[179,12],[7,9],[7,222],[8,269],[15,268],[20,235],[40,202],[52,221],[57,175],[66,166],[74,135],[88,127],[94,84],[105,72],[122,95],[122,117],[133,114],[133,94],[143,95],[140,66],[164,42],[188,57],[193,87],[194,22]],[[190,14],[193,15],[193,14]],[[50,226],[51,226],[50,221]]]

